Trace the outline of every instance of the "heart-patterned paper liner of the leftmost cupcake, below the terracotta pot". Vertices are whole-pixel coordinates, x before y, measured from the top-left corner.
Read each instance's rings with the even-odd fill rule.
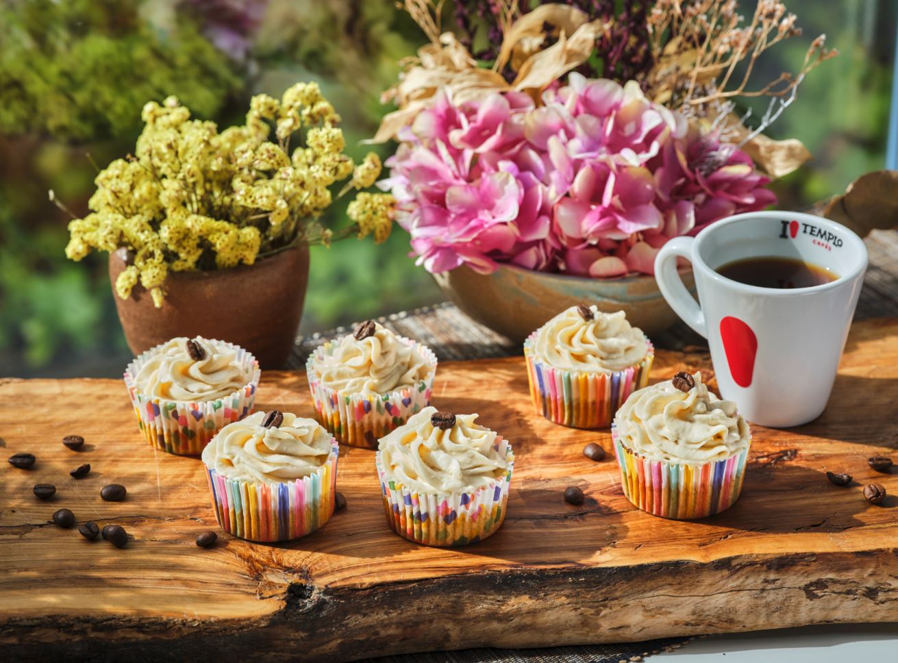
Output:
[[[237,351],[236,361],[244,373],[252,376],[247,385],[224,398],[213,401],[169,401],[150,396],[137,389],[136,376],[145,362],[164,345],[148,349],[125,369],[125,385],[137,426],[144,438],[157,449],[169,454],[200,455],[219,430],[229,423],[242,420],[252,413],[259,388],[261,371],[259,362],[245,349],[222,340],[211,340],[216,345]]]

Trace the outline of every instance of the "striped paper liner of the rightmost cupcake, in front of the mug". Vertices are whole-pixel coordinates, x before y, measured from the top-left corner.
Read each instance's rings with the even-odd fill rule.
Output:
[[[621,443],[612,429],[623,492],[635,507],[675,520],[726,511],[742,491],[748,449],[726,460],[700,465],[651,461]]]

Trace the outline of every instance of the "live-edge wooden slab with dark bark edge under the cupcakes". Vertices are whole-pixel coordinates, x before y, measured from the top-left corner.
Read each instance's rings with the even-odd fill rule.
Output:
[[[684,368],[709,372],[709,359],[659,351],[652,379]],[[348,508],[319,532],[280,545],[222,533],[202,550],[195,537],[216,529],[202,466],[143,441],[120,382],[0,380],[0,453],[38,457],[30,471],[0,468],[0,658],[338,661],[898,621],[898,475],[867,466],[898,461],[898,321],[854,326],[820,419],[753,427],[742,498],[699,522],[630,506],[612,455],[582,454],[588,442],[610,452],[609,433],[542,419],[521,358],[442,365],[434,393],[515,446],[496,535],[456,550],[401,539],[386,526],[374,453],[344,448]],[[311,415],[305,376],[265,372],[257,407]],[[83,451],[60,443],[72,433]],[[71,479],[82,463],[90,475]],[[834,486],[827,470],[855,483]],[[874,481],[889,492],[882,506],[861,495]],[[56,497],[36,499],[37,482],[55,483]],[[101,501],[112,482],[128,499]],[[563,501],[570,485],[584,504]],[[132,540],[117,550],[50,524],[64,506]]]

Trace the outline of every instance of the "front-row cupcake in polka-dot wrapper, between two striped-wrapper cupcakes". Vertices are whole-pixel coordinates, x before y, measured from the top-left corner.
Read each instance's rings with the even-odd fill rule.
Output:
[[[380,440],[383,508],[396,534],[418,544],[475,544],[505,519],[515,454],[494,431],[427,407]]]

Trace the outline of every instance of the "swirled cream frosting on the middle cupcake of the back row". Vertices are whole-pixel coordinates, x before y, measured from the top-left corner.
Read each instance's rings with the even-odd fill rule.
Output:
[[[312,367],[323,385],[347,393],[389,393],[409,388],[430,372],[418,349],[380,323],[374,323],[374,334],[363,340],[352,334],[344,336],[332,352],[313,358]]]

